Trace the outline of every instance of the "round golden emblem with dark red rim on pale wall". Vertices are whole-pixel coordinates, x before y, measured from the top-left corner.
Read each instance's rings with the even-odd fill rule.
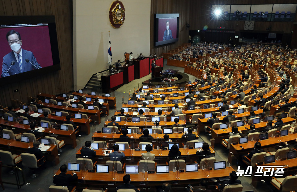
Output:
[[[125,8],[122,2],[114,1],[109,9],[110,24],[114,28],[122,27],[125,21]]]

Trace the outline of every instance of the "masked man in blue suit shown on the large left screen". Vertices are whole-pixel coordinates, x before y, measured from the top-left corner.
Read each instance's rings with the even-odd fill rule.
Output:
[[[33,53],[21,48],[22,40],[19,32],[16,32],[15,30],[9,31],[6,34],[6,40],[12,51],[3,57],[1,77],[7,77],[41,68]]]

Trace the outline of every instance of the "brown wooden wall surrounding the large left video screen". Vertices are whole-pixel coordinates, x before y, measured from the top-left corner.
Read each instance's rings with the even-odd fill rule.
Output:
[[[55,15],[61,70],[17,83],[0,85],[0,105],[10,99],[27,102],[38,93],[58,94],[73,89],[72,0],[2,0],[0,15]],[[19,92],[14,92],[19,89]]]

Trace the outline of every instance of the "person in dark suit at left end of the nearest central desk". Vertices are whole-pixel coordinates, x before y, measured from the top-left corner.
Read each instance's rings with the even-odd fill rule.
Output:
[[[56,186],[67,186],[68,190],[71,191],[71,188],[75,186],[75,182],[77,181],[77,174],[75,171],[72,171],[71,174],[67,173],[67,165],[63,164],[60,167],[61,173],[54,176],[53,183]]]

